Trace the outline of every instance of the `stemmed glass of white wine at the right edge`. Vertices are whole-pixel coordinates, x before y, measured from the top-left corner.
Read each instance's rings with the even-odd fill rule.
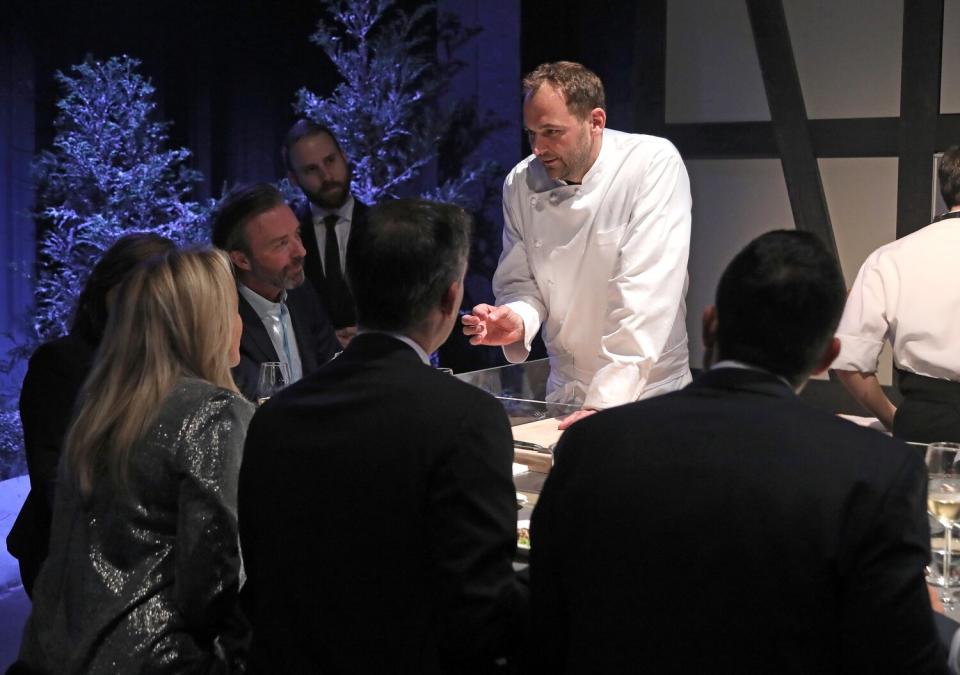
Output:
[[[927,446],[927,511],[943,525],[943,571],[939,585],[943,587],[940,601],[954,601],[951,588],[955,587],[951,573],[953,557],[953,526],[960,520],[960,443],[931,443]]]

